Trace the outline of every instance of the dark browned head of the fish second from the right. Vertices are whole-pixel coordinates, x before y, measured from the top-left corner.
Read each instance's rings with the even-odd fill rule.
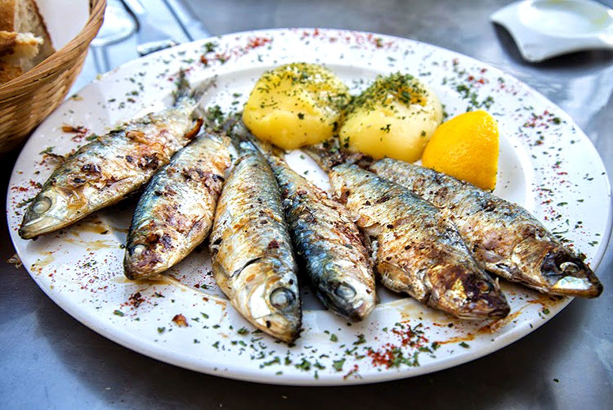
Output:
[[[460,319],[502,318],[511,311],[497,283],[484,272],[456,265],[447,267],[443,277],[446,284],[436,293],[437,303]]]

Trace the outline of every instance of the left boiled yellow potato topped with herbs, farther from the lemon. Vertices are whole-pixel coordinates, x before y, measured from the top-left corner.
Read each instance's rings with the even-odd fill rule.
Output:
[[[243,109],[251,132],[283,149],[317,144],[332,137],[347,86],[317,64],[292,63],[265,72]]]

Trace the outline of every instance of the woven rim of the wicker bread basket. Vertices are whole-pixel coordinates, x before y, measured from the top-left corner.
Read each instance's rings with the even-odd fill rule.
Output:
[[[36,87],[40,79],[53,75],[56,71],[64,69],[64,66],[72,64],[74,58],[83,52],[83,46],[89,47],[89,43],[96,37],[104,20],[106,0],[90,0],[89,7],[89,18],[77,36],[42,63],[0,85],[0,101],[14,98],[14,96],[23,94],[28,88]]]

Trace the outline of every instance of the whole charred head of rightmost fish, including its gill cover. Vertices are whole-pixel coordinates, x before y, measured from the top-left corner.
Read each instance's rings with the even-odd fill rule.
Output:
[[[546,237],[528,236],[511,255],[520,275],[533,288],[554,295],[595,298],[603,285],[584,261]]]

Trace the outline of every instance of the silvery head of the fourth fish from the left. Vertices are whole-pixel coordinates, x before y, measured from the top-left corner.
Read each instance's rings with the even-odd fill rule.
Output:
[[[359,321],[367,317],[375,308],[377,294],[375,285],[370,286],[359,278],[368,278],[366,272],[354,272],[359,269],[351,261],[324,261],[321,268],[322,280],[316,290],[318,297],[332,311]]]

